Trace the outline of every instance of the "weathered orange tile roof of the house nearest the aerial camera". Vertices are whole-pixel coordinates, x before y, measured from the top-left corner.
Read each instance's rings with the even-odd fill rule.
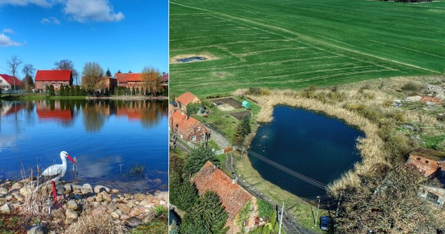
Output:
[[[220,196],[227,214],[229,214],[229,219],[232,220],[235,219],[236,214],[240,212],[243,206],[253,198],[243,187],[236,182],[232,182],[232,178],[223,171],[215,169],[209,161],[202,166],[192,182],[195,183],[200,194],[204,194],[207,190],[216,192]]]

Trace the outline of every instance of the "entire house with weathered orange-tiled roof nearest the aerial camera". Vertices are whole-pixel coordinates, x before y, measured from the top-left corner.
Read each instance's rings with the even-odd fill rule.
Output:
[[[259,218],[257,198],[247,192],[236,180],[230,178],[223,171],[218,169],[211,162],[207,161],[204,166],[193,177],[192,182],[195,184],[200,194],[211,190],[216,192],[220,197],[225,211],[228,214],[226,226],[229,226],[227,233],[241,233],[241,228],[249,232],[252,229],[263,225],[264,221]],[[250,208],[248,206],[250,205]],[[247,219],[240,224],[239,213],[241,210],[249,210]]]

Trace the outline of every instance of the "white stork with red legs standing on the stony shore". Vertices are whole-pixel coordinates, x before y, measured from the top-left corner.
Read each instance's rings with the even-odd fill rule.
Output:
[[[47,169],[44,169],[42,172],[42,175],[38,178],[38,187],[37,189],[49,183],[51,181],[51,185],[53,187],[53,198],[54,203],[57,203],[57,193],[56,193],[56,181],[60,180],[63,176],[65,176],[65,172],[67,171],[67,159],[70,159],[72,163],[74,160],[68,155],[66,151],[60,152],[60,159],[62,159],[62,164],[54,164],[52,166],[49,166]]]

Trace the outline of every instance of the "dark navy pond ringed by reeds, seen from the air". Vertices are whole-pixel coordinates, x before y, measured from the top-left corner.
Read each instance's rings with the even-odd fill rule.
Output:
[[[341,120],[284,106],[275,107],[273,118],[259,127],[249,158],[264,179],[292,194],[313,198],[326,192],[254,157],[255,153],[325,185],[361,160],[355,144],[364,134]]]

